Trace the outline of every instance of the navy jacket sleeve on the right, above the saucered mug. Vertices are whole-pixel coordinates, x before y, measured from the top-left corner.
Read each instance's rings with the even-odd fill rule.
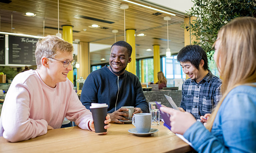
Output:
[[[136,92],[136,104],[135,104],[135,106],[141,108],[143,113],[148,113],[149,112],[149,103],[146,101],[146,97],[143,93],[142,86],[141,86],[141,83],[139,81],[139,78],[136,81],[135,92]]]

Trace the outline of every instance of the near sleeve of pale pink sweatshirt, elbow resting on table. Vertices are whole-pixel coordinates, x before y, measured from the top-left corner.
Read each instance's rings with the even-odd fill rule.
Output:
[[[47,133],[48,123],[44,119],[31,119],[30,94],[26,84],[14,80],[8,89],[2,114],[3,137],[11,142],[28,140]]]

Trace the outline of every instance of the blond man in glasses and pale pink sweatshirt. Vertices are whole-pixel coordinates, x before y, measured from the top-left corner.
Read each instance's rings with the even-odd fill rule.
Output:
[[[61,127],[64,117],[81,129],[94,131],[86,109],[67,79],[72,70],[73,46],[57,36],[39,40],[35,51],[36,70],[14,77],[6,94],[0,118],[0,136],[11,142],[28,140]],[[105,129],[110,124],[106,116]]]

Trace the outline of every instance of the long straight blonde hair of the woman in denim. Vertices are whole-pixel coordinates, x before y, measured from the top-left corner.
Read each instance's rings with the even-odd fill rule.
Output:
[[[234,19],[220,29],[218,39],[220,45],[216,63],[223,80],[223,96],[207,122],[209,131],[227,94],[238,85],[256,81],[256,19]]]

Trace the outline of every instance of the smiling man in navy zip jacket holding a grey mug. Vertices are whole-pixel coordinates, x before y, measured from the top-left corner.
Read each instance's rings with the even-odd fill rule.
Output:
[[[90,109],[91,103],[107,103],[107,112],[111,122],[123,124],[119,120],[128,120],[122,112],[122,106],[134,106],[134,114],[149,112],[149,104],[143,93],[139,78],[126,71],[132,58],[132,46],[125,41],[118,41],[111,46],[109,66],[93,71],[87,76],[82,92],[81,102]]]

